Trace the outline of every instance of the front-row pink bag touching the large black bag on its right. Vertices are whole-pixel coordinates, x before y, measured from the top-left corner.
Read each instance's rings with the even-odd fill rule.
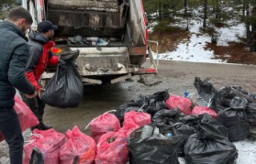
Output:
[[[124,164],[128,162],[127,136],[110,131],[98,140],[96,164]]]

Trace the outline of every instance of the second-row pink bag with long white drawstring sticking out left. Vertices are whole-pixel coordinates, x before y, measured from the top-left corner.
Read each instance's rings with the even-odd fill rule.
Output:
[[[98,116],[90,123],[90,136],[96,143],[98,139],[109,131],[119,131],[120,122],[114,114],[105,113]]]

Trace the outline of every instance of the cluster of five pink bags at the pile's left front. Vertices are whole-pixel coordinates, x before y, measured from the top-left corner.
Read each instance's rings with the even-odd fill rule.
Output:
[[[82,133],[78,127],[66,131],[66,135],[54,129],[35,129],[30,140],[24,145],[23,163],[126,163],[129,161],[127,139],[130,133],[148,123],[151,123],[150,114],[130,111],[125,115],[122,128],[114,114],[105,113],[98,116],[89,125],[92,137]]]

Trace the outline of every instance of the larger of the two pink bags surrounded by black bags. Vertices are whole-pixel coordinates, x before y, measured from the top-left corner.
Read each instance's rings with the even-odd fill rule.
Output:
[[[185,115],[190,115],[191,101],[186,97],[172,95],[168,100],[166,100],[166,106],[170,110],[177,107]]]

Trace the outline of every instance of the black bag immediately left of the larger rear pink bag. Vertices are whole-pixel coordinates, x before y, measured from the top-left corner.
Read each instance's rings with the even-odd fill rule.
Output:
[[[153,95],[146,96],[149,103],[143,107],[147,113],[150,113],[152,116],[162,109],[167,109],[166,100],[169,98],[170,94],[168,90],[155,92]]]

